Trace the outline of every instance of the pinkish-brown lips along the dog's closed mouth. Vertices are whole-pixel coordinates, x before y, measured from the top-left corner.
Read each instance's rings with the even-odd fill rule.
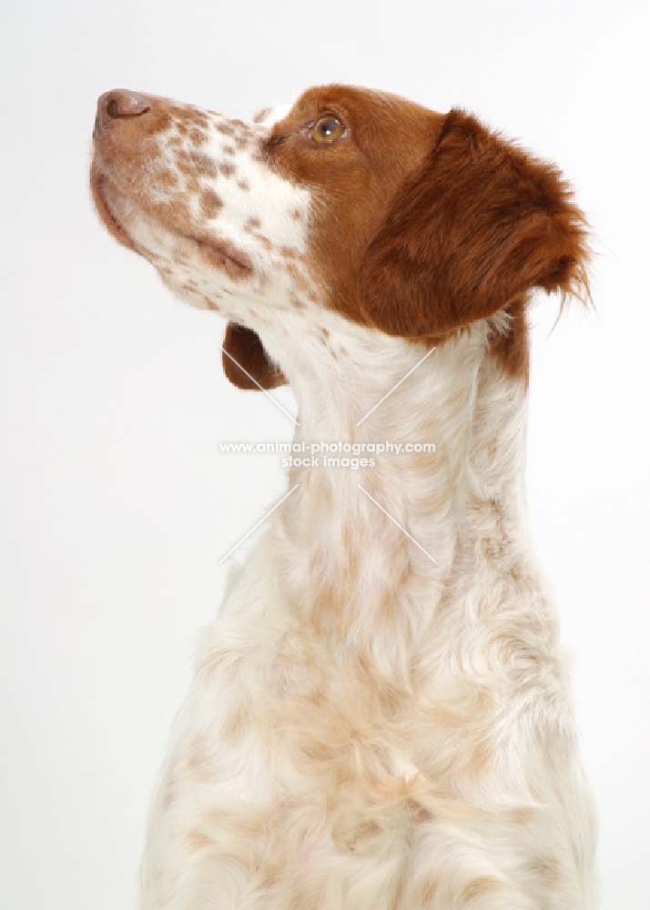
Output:
[[[114,187],[112,181],[109,181],[97,167],[93,167],[91,190],[97,214],[111,235],[123,247],[132,249],[147,258],[147,251],[131,237],[123,223],[123,219],[119,216],[120,207],[131,205],[139,208],[139,206],[126,193]],[[147,218],[152,218],[146,209],[142,211]],[[159,222],[155,217],[153,217],[153,220],[169,233],[188,241],[189,244],[198,249],[201,258],[205,259],[209,265],[225,271],[229,278],[249,278],[252,275],[253,265],[249,256],[228,240],[206,235],[198,236],[188,231],[178,232],[173,227]]]

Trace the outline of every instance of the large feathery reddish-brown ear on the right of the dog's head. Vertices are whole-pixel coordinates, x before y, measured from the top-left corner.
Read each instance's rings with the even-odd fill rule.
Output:
[[[587,230],[553,165],[452,110],[361,263],[361,306],[392,335],[435,336],[530,288],[588,297]]]

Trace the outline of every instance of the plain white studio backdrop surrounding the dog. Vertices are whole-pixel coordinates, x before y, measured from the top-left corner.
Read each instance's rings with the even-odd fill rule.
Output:
[[[603,905],[650,906],[647,5],[4,0],[0,12],[0,906],[137,902],[147,804],[218,559],[279,497],[223,440],[291,425],[220,369],[224,324],[108,238],[96,96],[229,116],[344,81],[465,106],[560,163],[595,314],[535,310],[528,487],[601,825]],[[288,391],[280,393],[290,402]]]

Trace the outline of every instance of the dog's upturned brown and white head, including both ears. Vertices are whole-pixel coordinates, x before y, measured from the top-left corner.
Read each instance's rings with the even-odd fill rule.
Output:
[[[241,388],[285,381],[260,335],[298,346],[305,325],[327,331],[319,314],[440,343],[500,311],[524,332],[532,288],[586,292],[584,217],[558,170],[459,110],[327,86],[246,124],[118,90],[94,138],[100,216],[229,319]],[[520,368],[522,346],[496,343]]]

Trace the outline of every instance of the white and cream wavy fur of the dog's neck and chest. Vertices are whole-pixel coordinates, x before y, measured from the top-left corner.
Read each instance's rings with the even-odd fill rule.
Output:
[[[370,364],[351,369],[361,349],[344,386],[298,383],[299,439],[436,451],[294,470],[198,655],[147,910],[590,906],[591,803],[525,531],[525,390],[488,332],[434,352],[359,427],[381,398]],[[385,386],[389,349],[396,376],[421,350],[381,343]]]

